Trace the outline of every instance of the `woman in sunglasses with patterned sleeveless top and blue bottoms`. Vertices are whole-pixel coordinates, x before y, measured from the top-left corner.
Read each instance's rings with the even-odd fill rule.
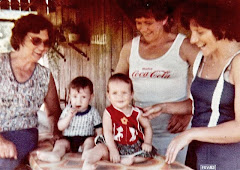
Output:
[[[14,50],[0,54],[0,169],[15,169],[37,147],[37,111],[43,103],[55,120],[61,113],[51,72],[38,64],[52,43],[51,22],[29,14],[12,29]]]

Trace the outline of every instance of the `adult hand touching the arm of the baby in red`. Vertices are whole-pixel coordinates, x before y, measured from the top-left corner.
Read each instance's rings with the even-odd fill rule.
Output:
[[[149,107],[143,108],[143,116],[153,119],[159,116],[161,113],[166,113],[166,104],[159,103]]]

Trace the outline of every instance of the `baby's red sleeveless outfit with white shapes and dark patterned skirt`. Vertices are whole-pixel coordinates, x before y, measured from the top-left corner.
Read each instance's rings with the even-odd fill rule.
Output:
[[[154,157],[156,155],[154,147],[151,152],[142,150],[144,134],[139,122],[139,116],[142,113],[139,108],[132,107],[129,116],[113,105],[108,106],[106,111],[112,119],[114,141],[121,156]]]

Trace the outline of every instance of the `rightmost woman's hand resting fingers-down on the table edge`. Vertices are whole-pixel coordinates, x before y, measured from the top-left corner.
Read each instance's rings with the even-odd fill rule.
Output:
[[[178,152],[187,146],[191,141],[191,130],[184,131],[180,135],[176,136],[168,145],[165,162],[168,164],[173,163]]]

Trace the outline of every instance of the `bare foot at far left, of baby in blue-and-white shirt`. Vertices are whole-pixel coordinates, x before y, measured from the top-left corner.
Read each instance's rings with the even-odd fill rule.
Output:
[[[59,162],[61,160],[61,157],[54,152],[37,151],[37,157],[46,162]]]

